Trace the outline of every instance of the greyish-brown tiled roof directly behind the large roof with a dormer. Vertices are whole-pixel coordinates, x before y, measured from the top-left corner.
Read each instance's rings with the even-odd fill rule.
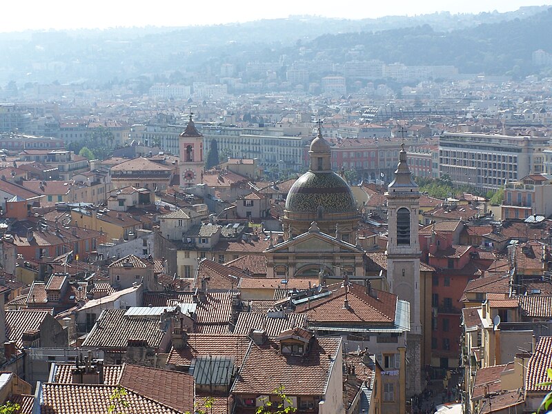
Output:
[[[277,337],[295,326],[306,326],[304,313],[287,313],[284,317],[268,317],[266,312],[241,312],[237,317],[235,334],[249,335],[250,330],[262,330],[268,337]]]

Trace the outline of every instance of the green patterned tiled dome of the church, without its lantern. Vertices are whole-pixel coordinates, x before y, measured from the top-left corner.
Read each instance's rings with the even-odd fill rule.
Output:
[[[356,212],[355,197],[348,184],[335,172],[305,172],[290,188],[286,210],[293,213],[316,214]]]

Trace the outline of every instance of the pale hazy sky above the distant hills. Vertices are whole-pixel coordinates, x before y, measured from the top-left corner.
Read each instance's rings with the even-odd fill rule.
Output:
[[[541,6],[551,0],[4,0],[0,32],[28,29],[109,28],[115,26],[190,26],[316,14],[360,19],[436,11],[505,12]]]

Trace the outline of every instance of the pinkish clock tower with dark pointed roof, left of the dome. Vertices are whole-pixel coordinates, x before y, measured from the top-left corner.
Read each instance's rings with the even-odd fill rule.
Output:
[[[190,113],[190,120],[188,121],[186,130],[179,136],[181,188],[193,187],[203,181],[202,175],[205,166],[203,159],[203,135],[195,128],[192,115]]]

